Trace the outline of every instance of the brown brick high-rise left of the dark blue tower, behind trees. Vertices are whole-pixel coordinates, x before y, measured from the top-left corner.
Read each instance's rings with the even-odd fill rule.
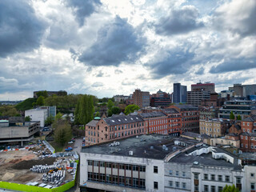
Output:
[[[150,92],[148,91],[135,90],[133,98],[134,104],[140,108],[150,106]]]

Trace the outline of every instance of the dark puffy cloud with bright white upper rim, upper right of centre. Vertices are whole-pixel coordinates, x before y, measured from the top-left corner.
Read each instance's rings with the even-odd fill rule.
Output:
[[[204,26],[198,22],[198,10],[194,6],[183,6],[181,10],[172,10],[166,17],[154,24],[157,34],[184,34]]]

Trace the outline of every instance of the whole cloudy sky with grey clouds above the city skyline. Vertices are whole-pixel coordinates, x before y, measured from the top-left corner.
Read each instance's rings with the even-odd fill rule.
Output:
[[[0,100],[256,82],[255,0],[2,0]]]

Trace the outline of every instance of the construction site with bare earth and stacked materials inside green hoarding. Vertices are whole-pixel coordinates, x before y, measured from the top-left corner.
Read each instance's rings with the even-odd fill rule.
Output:
[[[74,181],[76,168],[72,154],[52,154],[44,144],[0,152],[0,181],[5,183],[54,189]]]

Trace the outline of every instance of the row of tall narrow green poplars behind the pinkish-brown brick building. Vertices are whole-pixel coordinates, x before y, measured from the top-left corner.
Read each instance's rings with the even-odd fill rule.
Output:
[[[77,125],[86,125],[94,119],[94,96],[84,94],[78,100],[74,110],[74,123]]]

